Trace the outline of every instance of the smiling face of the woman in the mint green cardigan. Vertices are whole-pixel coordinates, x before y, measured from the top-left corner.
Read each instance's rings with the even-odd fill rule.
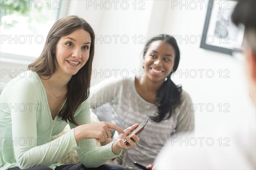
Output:
[[[56,45],[56,69],[61,75],[75,75],[90,56],[90,33],[77,29],[63,36]]]

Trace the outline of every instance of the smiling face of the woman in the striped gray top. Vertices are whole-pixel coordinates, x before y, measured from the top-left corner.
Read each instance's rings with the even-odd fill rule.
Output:
[[[162,40],[154,41],[148,47],[144,58],[145,78],[161,82],[172,72],[175,49]]]

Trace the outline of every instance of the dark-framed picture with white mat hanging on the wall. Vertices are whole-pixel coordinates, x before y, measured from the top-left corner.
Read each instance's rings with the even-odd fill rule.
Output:
[[[209,0],[200,48],[232,55],[241,50],[244,27],[232,23],[237,0]]]

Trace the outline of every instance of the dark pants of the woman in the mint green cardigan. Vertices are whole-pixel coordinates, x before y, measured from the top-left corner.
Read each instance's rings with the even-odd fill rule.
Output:
[[[9,170],[20,170],[18,167],[13,167]],[[26,170],[52,170],[49,167],[30,167]],[[83,164],[69,164],[69,165],[62,165],[60,167],[56,167],[55,170],[125,170],[119,164],[103,164],[99,167],[94,168],[86,168]]]

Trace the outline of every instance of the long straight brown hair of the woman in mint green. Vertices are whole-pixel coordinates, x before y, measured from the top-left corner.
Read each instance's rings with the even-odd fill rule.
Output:
[[[67,84],[67,101],[58,113],[61,120],[66,122],[68,120],[76,125],[78,125],[74,119],[76,109],[89,97],[90,93],[90,79],[95,41],[95,34],[92,27],[84,19],[74,15],[57,20],[47,35],[47,40],[41,55],[28,66],[29,70],[37,72],[38,75],[49,76],[50,78],[56,71],[54,54],[56,44],[61,37],[70,35],[77,29],[84,29],[84,31],[90,33],[90,55],[85,65],[72,76]]]

